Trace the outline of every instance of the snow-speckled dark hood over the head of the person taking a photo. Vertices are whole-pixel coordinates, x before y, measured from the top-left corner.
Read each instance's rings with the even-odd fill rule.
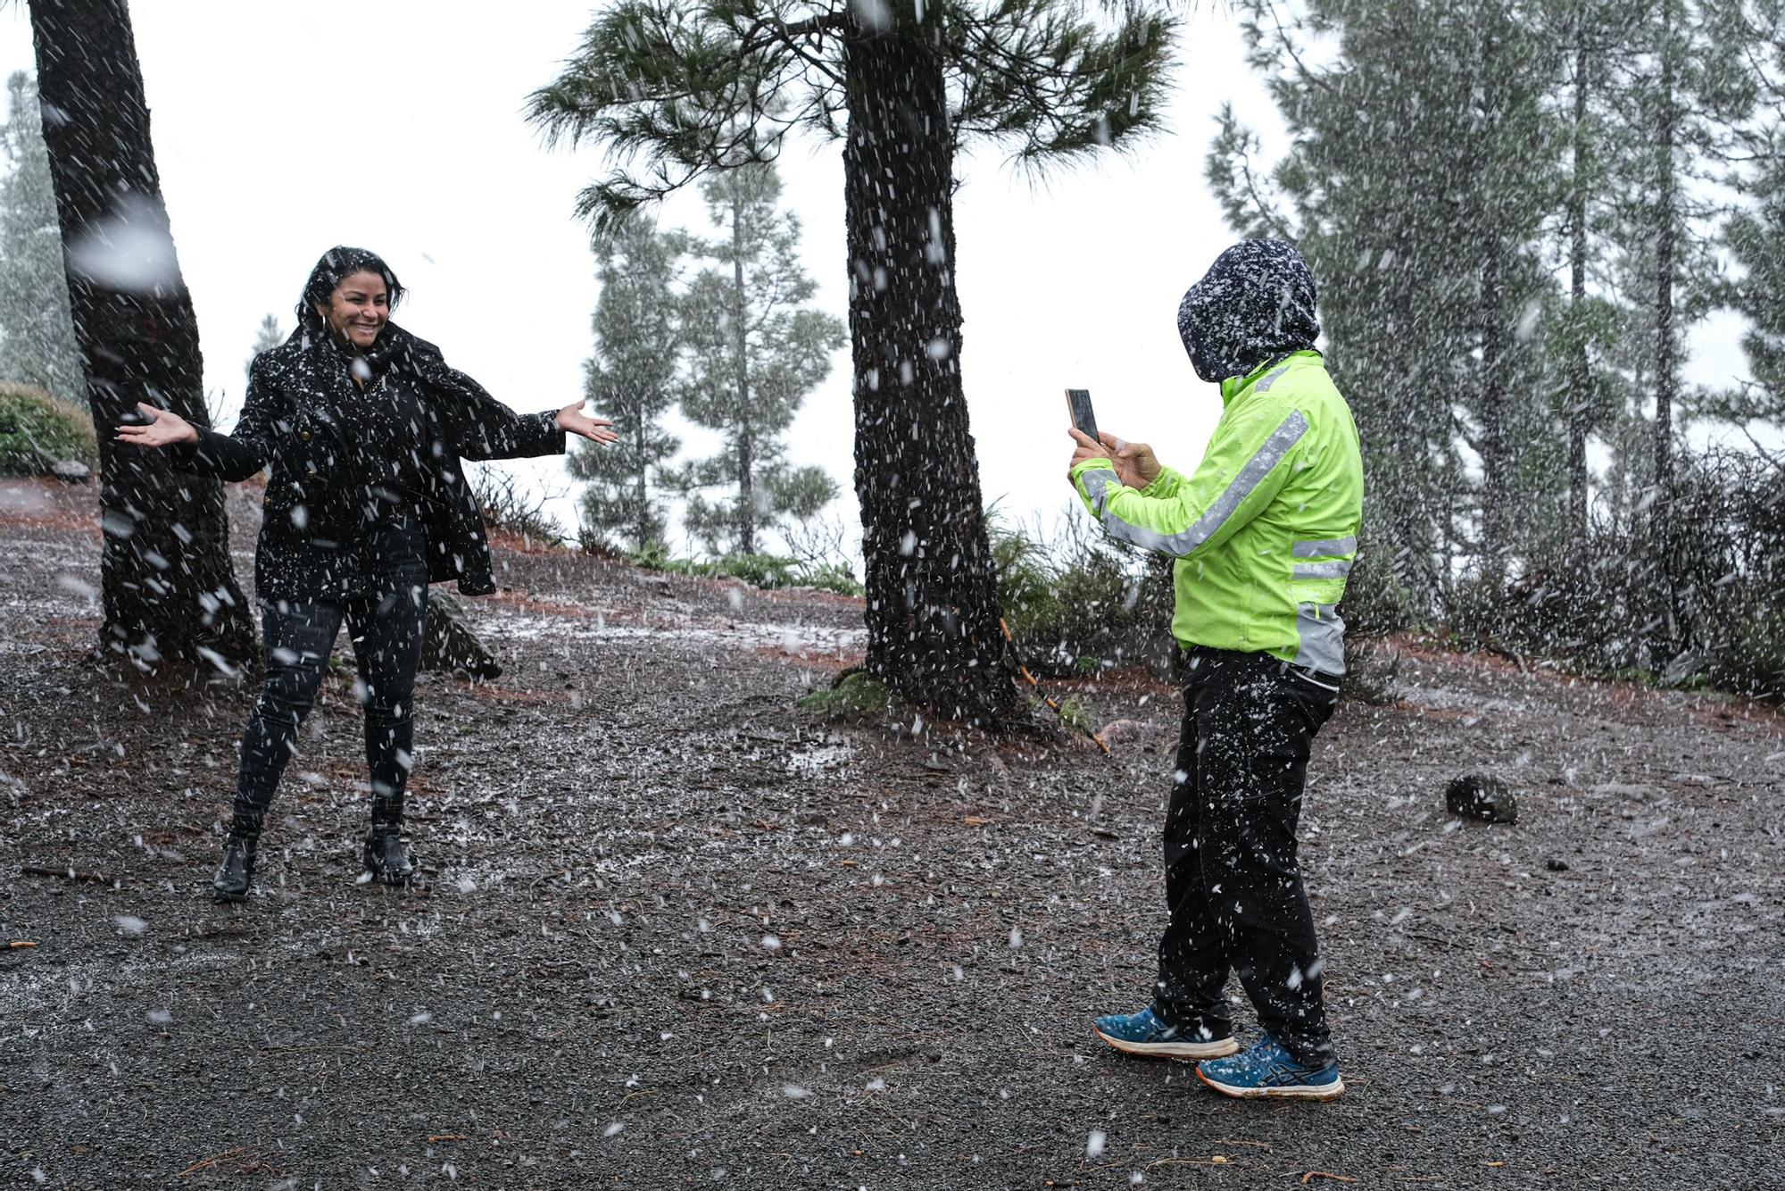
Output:
[[[1178,334],[1191,368],[1210,384],[1305,352],[1321,334],[1314,273],[1280,239],[1242,239],[1183,295]]]

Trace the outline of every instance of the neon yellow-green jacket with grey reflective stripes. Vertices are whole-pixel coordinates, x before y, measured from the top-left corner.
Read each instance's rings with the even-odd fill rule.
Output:
[[[1112,537],[1176,557],[1180,645],[1341,675],[1337,604],[1364,516],[1351,409],[1319,352],[1223,380],[1221,402],[1194,475],[1162,468],[1137,491],[1108,459],[1087,459],[1073,468],[1078,495]]]

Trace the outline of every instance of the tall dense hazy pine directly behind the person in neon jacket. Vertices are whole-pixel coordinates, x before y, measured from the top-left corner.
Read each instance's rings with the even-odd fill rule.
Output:
[[[1555,286],[1535,241],[1558,179],[1542,104],[1558,62],[1532,16],[1257,0],[1244,34],[1292,148],[1262,168],[1232,112],[1210,148],[1233,227],[1296,239],[1321,280],[1328,364],[1366,439],[1376,598],[1401,609],[1378,623],[1439,609],[1458,537],[1498,582],[1557,484],[1535,334]],[[1316,37],[1337,46],[1323,66]],[[1482,484],[1458,502],[1465,448]]]

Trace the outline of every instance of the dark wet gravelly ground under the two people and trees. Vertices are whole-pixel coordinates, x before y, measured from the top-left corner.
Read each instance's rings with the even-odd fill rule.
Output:
[[[250,695],[86,659],[87,502],[0,484],[0,1184],[1785,1180],[1765,709],[1408,657],[1305,811],[1351,1091],[1239,1104],[1089,1036],[1151,980],[1173,691],[1085,691],[1114,759],[832,730],[848,602],[503,550],[507,673],[418,696],[427,880],[355,882],[343,675],[218,907]],[[1476,768],[1515,827],[1442,812]]]

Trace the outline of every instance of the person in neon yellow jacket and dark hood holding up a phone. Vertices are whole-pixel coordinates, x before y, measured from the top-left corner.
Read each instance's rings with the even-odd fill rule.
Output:
[[[1228,248],[1183,296],[1178,330],[1223,402],[1191,475],[1144,443],[1071,430],[1071,480],[1105,532],[1176,559],[1171,629],[1187,654],[1153,1004],[1094,1029],[1128,1054],[1201,1059],[1198,1077],[1226,1095],[1330,1100],[1344,1082],[1296,825],[1344,673],[1337,605],[1364,502],[1357,425],[1314,346],[1314,275],[1292,246]],[[1264,1029],[1242,1054],[1230,973]]]

